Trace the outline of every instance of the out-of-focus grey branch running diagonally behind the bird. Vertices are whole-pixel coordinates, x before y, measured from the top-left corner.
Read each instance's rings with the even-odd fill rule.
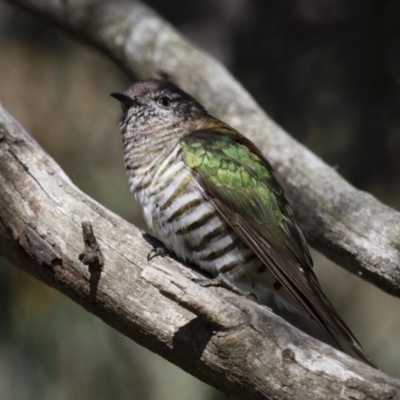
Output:
[[[140,78],[170,74],[213,114],[255,141],[275,167],[308,241],[400,295],[400,214],[356,190],[271,121],[215,60],[134,1],[14,0],[93,44]]]

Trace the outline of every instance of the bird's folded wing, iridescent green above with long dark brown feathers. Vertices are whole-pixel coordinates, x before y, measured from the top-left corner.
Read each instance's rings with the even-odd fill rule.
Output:
[[[332,328],[375,367],[323,294],[303,234],[259,150],[227,126],[192,132],[180,143],[185,164],[237,235],[336,343]]]

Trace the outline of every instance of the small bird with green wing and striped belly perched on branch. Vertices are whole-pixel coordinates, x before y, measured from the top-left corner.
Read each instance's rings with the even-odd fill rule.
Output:
[[[111,96],[121,104],[129,186],[149,233],[215,282],[272,292],[377,368],[325,296],[261,151],[171,80],[139,81]]]

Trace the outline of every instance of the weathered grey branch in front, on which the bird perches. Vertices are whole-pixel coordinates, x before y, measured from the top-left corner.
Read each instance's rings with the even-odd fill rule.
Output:
[[[82,221],[92,223],[97,241],[87,231],[86,242],[101,252],[102,270],[79,260]],[[195,272],[168,257],[148,264],[150,248],[138,229],[81,193],[0,106],[0,254],[16,266],[236,397],[400,399],[400,381],[263,306],[198,286],[188,279]]]

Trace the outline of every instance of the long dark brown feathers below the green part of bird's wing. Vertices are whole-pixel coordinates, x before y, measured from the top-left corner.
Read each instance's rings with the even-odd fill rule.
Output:
[[[378,369],[322,292],[312,268],[307,245],[294,221],[286,228],[290,229],[292,226],[294,237],[300,240],[300,245],[295,247],[281,225],[258,224],[230,209],[217,197],[213,198],[213,202],[239,237],[257,254],[289,294],[299,302],[305,314],[327,331],[339,348],[340,345],[332,330],[343,338],[363,361]]]

